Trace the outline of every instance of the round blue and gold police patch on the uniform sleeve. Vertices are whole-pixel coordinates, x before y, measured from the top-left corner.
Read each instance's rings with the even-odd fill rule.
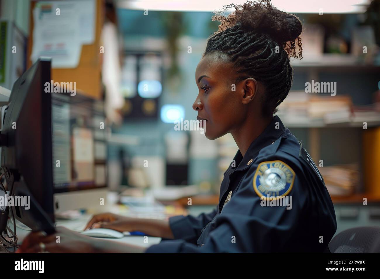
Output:
[[[295,173],[282,161],[261,162],[253,177],[253,189],[259,197],[284,197],[293,188]]]

